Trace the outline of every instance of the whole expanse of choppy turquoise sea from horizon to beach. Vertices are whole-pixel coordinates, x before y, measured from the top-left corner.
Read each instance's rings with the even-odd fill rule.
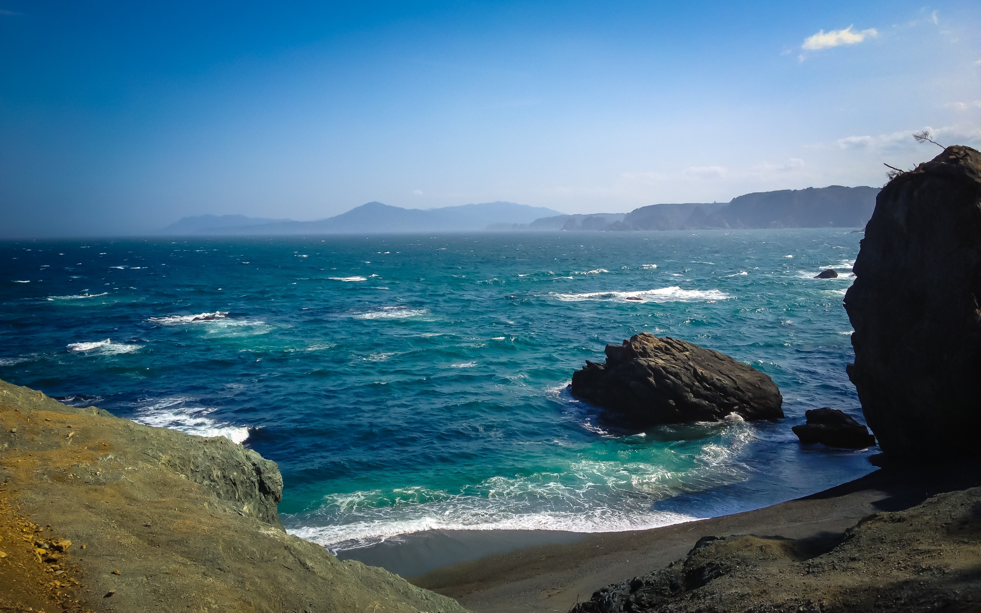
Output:
[[[861,420],[842,298],[860,233],[710,230],[0,243],[0,378],[276,460],[290,531],[617,531],[871,470],[801,447]],[[641,301],[626,300],[628,296]],[[196,321],[195,321],[196,320]],[[787,419],[615,432],[569,395],[637,332],[767,373]]]

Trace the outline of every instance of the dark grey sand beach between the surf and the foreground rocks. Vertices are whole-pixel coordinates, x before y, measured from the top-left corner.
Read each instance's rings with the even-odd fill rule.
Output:
[[[487,553],[498,531],[432,531],[378,549],[371,564],[425,559],[427,550],[450,543],[469,550],[470,559],[409,576],[410,583],[457,599],[476,613],[567,611],[589,599],[594,590],[645,575],[685,557],[701,536],[781,536],[804,539],[815,551],[836,544],[863,518],[881,511],[901,511],[945,491],[981,485],[970,467],[927,470],[879,469],[860,479],[818,493],[753,511],[674,524],[645,531],[507,533],[503,548],[527,538],[526,546]],[[480,533],[480,534],[478,534]],[[384,544],[384,543],[380,543]],[[357,551],[357,550],[351,550]]]

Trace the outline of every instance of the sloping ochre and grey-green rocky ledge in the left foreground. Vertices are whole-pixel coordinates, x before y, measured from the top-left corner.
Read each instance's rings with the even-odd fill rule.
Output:
[[[0,610],[38,610],[35,600],[18,601],[26,594],[116,612],[465,611],[286,535],[276,464],[224,436],[141,426],[4,382],[0,423],[0,527],[8,532],[0,551],[12,552],[0,556]],[[15,515],[36,524],[37,536]],[[70,560],[58,560],[68,572],[56,575],[37,556],[35,565],[49,565],[38,586],[14,560],[55,534],[72,541]]]

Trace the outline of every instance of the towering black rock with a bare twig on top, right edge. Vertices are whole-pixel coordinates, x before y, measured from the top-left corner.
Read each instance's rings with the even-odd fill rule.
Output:
[[[981,454],[981,153],[883,187],[853,270],[848,372],[886,457]]]

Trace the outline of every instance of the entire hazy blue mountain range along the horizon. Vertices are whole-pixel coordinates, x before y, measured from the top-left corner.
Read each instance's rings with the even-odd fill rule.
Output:
[[[403,209],[369,202],[314,222],[242,215],[185,217],[161,234],[330,234],[473,230],[702,230],[712,228],[861,228],[872,217],[875,187],[762,191],[728,203],[652,204],[630,213],[564,215],[514,202]]]

